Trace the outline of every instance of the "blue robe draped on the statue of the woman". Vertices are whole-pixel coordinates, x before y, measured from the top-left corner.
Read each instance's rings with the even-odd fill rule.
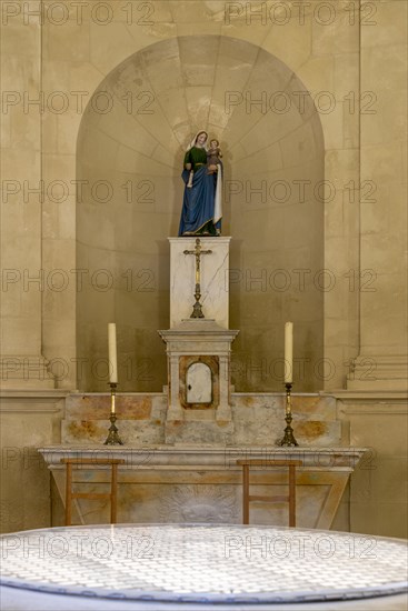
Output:
[[[201,149],[200,152],[201,151],[207,154],[203,149]],[[221,218],[218,218],[219,213],[216,210],[218,174],[209,174],[207,172],[207,166],[203,163],[196,163],[193,164],[192,187],[190,188],[187,187],[189,176],[189,170],[183,170],[181,178],[185,182],[185,196],[182,200],[179,236],[220,234]]]

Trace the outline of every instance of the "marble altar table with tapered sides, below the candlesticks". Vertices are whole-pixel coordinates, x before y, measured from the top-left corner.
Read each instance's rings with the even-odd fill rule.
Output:
[[[365,453],[364,448],[203,448],[56,445],[41,448],[64,500],[66,471],[61,459],[94,460],[94,465],[76,470],[78,489],[100,492],[109,489],[109,471],[99,458],[123,459],[119,465],[118,521],[122,523],[242,522],[242,474],[238,460],[260,459],[265,465],[251,474],[261,493],[287,490],[283,469],[267,467],[276,459],[300,460],[297,470],[297,524],[329,529],[341,502],[349,475]],[[288,523],[286,503],[259,503],[251,510],[251,523]],[[79,524],[109,522],[105,501],[77,500],[73,521]]]

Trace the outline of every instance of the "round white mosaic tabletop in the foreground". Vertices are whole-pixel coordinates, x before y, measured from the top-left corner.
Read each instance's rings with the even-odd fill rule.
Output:
[[[407,544],[355,533],[215,524],[6,534],[1,584],[105,599],[285,603],[407,591]]]

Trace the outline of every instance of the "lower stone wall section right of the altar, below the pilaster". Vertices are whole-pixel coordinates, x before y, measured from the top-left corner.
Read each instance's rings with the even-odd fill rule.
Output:
[[[407,397],[372,391],[337,397],[350,445],[369,447],[351,479],[350,530],[407,538]]]

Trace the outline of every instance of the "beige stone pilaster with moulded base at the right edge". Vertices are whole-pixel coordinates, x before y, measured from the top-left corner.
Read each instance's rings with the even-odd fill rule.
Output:
[[[371,17],[360,26],[360,353],[349,389],[407,387],[407,7],[361,1]]]

